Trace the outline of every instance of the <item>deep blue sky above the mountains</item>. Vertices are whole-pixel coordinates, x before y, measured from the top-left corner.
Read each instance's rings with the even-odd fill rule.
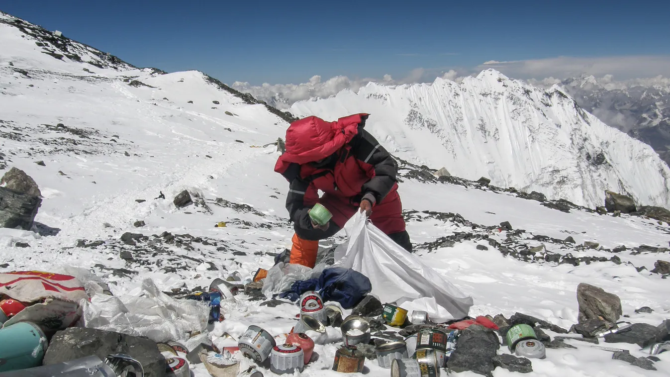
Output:
[[[136,66],[198,69],[228,83],[670,54],[667,0],[5,0],[0,9]]]

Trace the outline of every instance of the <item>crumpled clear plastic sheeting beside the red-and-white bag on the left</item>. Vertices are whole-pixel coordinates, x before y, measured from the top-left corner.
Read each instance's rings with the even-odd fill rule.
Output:
[[[128,295],[96,294],[80,305],[85,327],[145,336],[154,342],[187,340],[189,332],[204,331],[209,318],[206,303],[173,299],[151,279]]]

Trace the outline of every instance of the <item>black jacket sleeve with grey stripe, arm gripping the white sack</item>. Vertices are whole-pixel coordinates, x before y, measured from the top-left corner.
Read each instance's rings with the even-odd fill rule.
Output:
[[[351,153],[372,178],[364,183],[361,194],[372,196],[379,203],[393,190],[397,182],[398,165],[391,154],[379,144],[379,141],[361,125],[358,135],[350,141]]]

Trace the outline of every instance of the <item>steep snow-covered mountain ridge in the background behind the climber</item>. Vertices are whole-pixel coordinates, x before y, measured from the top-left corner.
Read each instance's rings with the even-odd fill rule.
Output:
[[[369,112],[368,129],[390,151],[468,179],[602,206],[604,190],[670,206],[670,169],[649,146],[607,127],[559,87],[540,90],[495,70],[461,84],[368,84],[291,112],[337,119]]]

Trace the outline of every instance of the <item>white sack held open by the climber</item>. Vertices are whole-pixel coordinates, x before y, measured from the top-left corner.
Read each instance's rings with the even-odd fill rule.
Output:
[[[395,303],[408,311],[427,311],[433,321],[468,315],[472,297],[393,242],[357,212],[346,224],[349,240],[335,250],[336,265],[362,273],[382,303]]]

